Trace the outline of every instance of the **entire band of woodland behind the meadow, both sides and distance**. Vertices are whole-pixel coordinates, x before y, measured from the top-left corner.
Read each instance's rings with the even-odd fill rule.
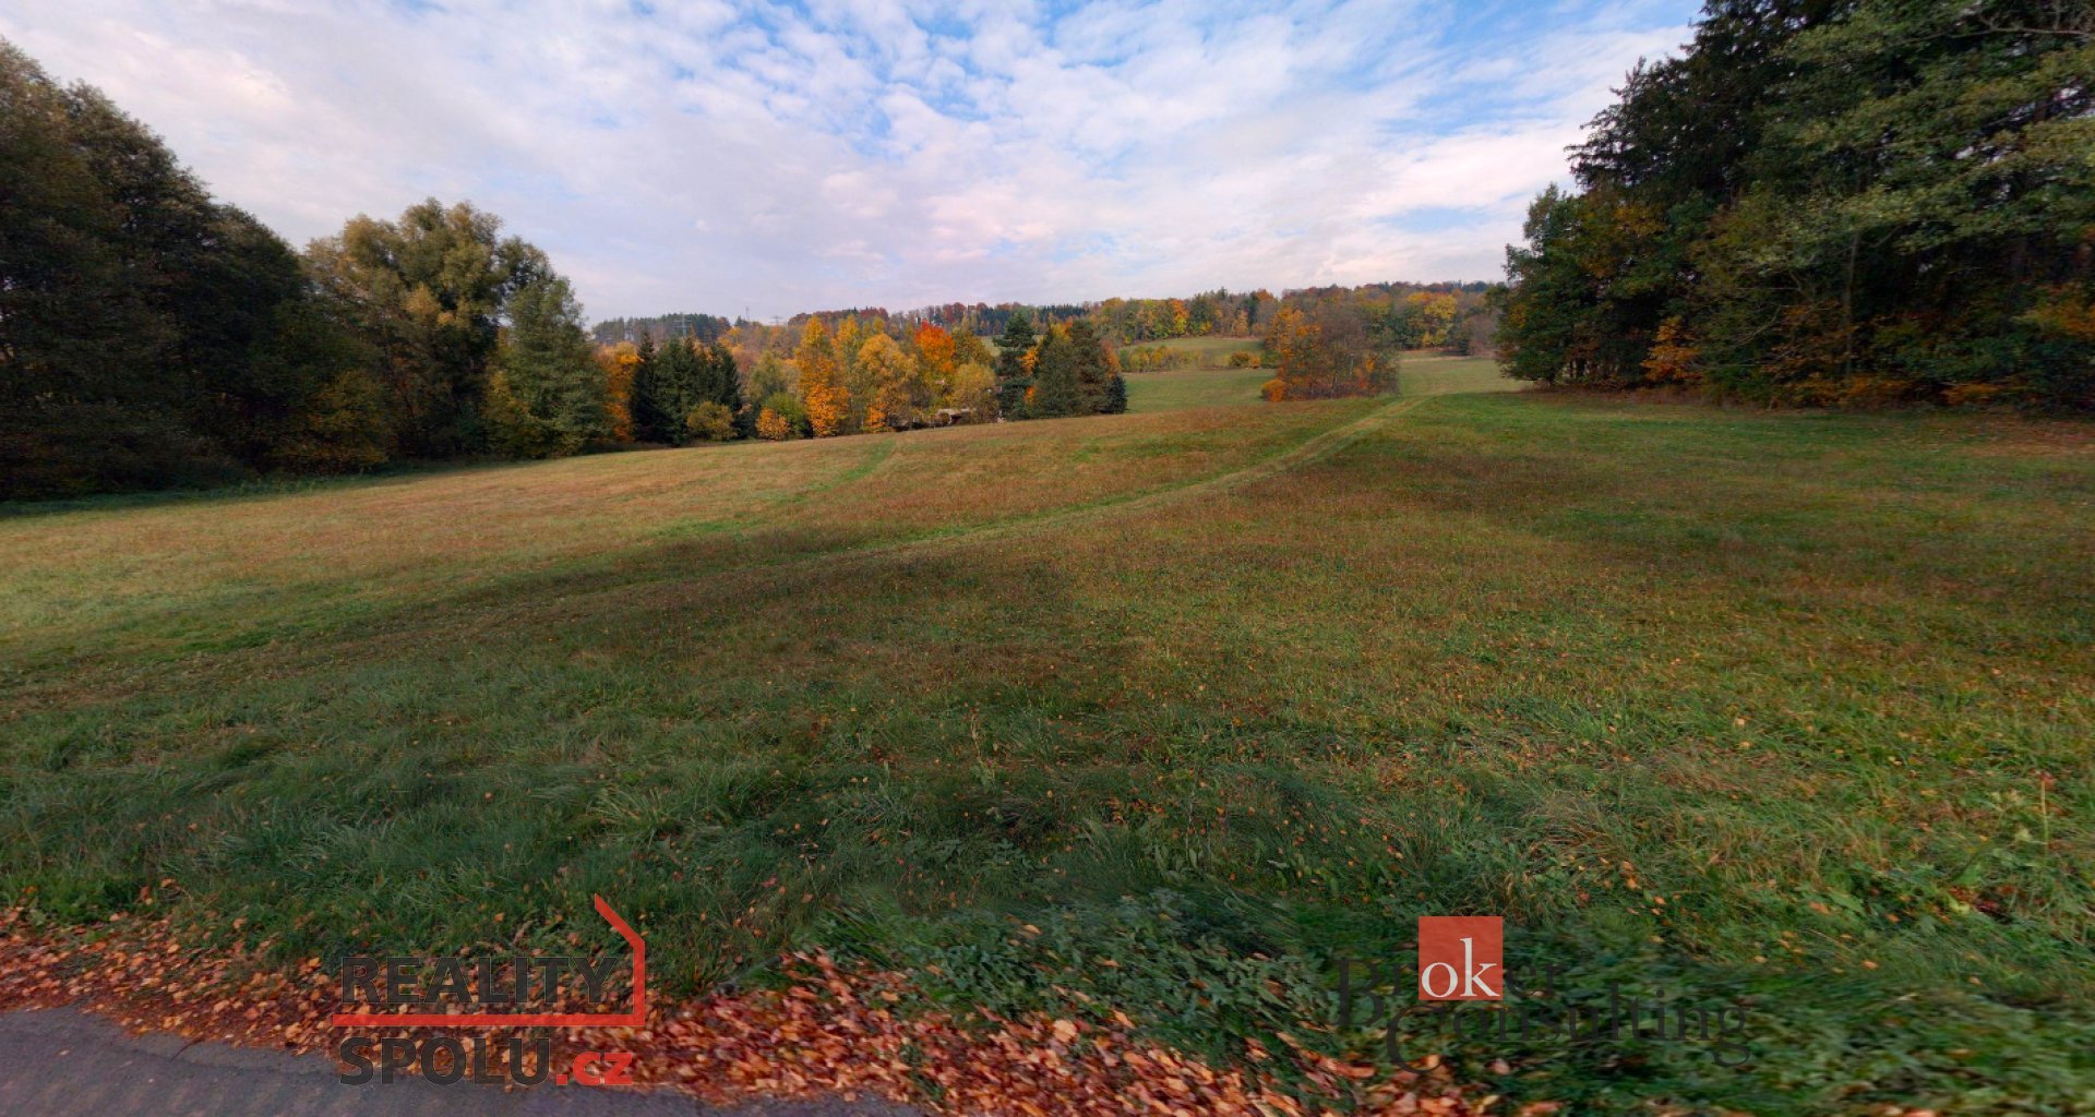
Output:
[[[0,42],[0,499],[1125,409],[1179,337],[1265,398],[1404,350],[1800,407],[2095,409],[2095,10],[1720,0],[1531,205],[1506,283],[591,325],[471,203],[302,251]]]

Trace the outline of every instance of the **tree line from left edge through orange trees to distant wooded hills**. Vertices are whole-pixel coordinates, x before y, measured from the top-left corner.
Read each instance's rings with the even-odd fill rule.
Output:
[[[591,327],[547,254],[469,203],[356,216],[293,249],[98,90],[0,42],[6,499],[1110,415],[1121,346],[1161,367],[1156,342],[1230,331],[1267,335],[1272,398],[1379,390],[1370,350],[1487,337],[1485,295],[1385,283]]]

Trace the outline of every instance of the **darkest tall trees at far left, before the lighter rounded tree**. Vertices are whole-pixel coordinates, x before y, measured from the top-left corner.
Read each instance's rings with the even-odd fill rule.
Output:
[[[0,495],[367,465],[339,327],[283,239],[0,42]]]

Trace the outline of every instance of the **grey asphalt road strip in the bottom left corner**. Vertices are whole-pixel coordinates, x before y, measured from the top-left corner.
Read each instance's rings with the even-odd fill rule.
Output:
[[[0,1113],[8,1117],[918,1117],[886,1102],[756,1102],[716,1109],[629,1090],[341,1086],[323,1056],[128,1035],[71,1008],[0,1012]]]

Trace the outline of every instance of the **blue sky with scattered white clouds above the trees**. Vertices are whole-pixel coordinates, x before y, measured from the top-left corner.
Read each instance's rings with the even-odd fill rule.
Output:
[[[595,319],[1498,279],[1689,0],[0,0],[302,245],[438,197]]]

